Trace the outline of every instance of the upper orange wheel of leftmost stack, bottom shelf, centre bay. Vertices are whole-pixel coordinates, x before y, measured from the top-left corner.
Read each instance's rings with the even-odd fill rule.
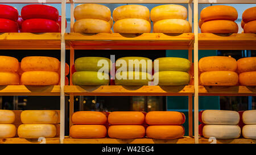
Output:
[[[77,111],[72,115],[73,124],[106,124],[106,115],[98,111]]]

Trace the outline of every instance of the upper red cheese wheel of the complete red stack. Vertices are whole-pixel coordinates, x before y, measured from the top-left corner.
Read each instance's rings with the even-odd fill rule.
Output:
[[[59,19],[59,11],[49,5],[26,5],[22,7],[21,16],[24,20],[41,18],[57,22]]]

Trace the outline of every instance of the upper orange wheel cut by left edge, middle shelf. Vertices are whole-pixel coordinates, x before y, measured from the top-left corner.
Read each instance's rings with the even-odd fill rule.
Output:
[[[0,56],[0,72],[17,72],[18,69],[18,59],[9,56]]]

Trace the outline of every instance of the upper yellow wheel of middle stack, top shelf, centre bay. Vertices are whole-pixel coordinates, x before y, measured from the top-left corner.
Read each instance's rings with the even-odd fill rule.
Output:
[[[146,6],[142,5],[123,5],[118,6],[113,11],[113,19],[115,22],[121,19],[138,18],[148,20],[150,19],[150,11]]]

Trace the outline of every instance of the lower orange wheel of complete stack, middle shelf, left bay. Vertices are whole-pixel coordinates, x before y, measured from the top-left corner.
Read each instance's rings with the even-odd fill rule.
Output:
[[[31,86],[48,86],[59,83],[59,74],[49,71],[28,71],[24,72],[21,77],[23,85]]]

